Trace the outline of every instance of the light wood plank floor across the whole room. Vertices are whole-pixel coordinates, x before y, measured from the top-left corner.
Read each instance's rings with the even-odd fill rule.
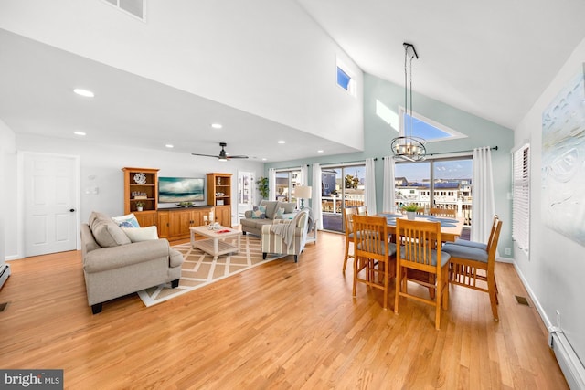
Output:
[[[433,308],[341,272],[344,237],[145,308],[136,294],[92,315],[80,252],[12,261],[0,290],[0,368],[64,369],[65,388],[564,389],[537,311],[498,264],[500,321],[487,294],[451,287]],[[527,297],[528,298],[528,297]]]

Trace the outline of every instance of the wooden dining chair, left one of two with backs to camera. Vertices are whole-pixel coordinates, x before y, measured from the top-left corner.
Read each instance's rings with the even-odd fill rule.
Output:
[[[384,292],[384,310],[388,309],[388,284],[394,277],[396,244],[388,242],[385,216],[354,215],[354,289],[357,282]]]

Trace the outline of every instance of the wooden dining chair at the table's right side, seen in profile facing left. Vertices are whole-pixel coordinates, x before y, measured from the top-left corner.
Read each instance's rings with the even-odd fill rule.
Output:
[[[495,217],[492,228],[494,232],[490,235],[485,249],[455,243],[447,243],[442,247],[442,250],[451,256],[449,259],[449,283],[487,292],[490,296],[494,321],[499,321],[497,285],[495,284],[495,254],[501,229],[502,221]],[[482,283],[478,284],[478,281]]]

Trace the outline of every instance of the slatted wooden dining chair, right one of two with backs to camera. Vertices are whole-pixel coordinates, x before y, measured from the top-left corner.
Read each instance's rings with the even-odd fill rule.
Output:
[[[441,242],[441,223],[411,221],[397,218],[396,235],[399,240],[396,254],[396,294],[394,312],[399,312],[400,297],[407,297],[435,306],[435,328],[441,329],[441,307],[449,308],[449,254],[436,249]],[[409,272],[409,271],[412,272]],[[425,275],[410,278],[411,274]],[[408,282],[415,281],[435,291],[434,299],[410,294]]]

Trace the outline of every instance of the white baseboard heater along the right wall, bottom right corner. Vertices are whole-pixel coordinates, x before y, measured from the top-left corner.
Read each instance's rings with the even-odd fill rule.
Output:
[[[548,346],[555,353],[569,387],[572,390],[585,390],[585,367],[562,329],[556,326],[548,328]]]

